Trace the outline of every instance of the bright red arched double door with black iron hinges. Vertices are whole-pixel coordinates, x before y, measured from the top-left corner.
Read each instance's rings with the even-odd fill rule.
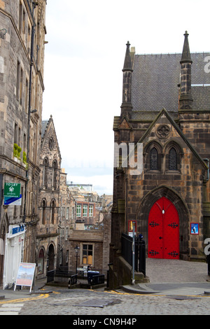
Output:
[[[149,214],[148,258],[179,259],[179,215],[166,197],[155,202]]]

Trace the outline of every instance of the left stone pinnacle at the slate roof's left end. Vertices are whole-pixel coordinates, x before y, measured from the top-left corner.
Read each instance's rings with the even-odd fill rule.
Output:
[[[130,55],[130,43],[127,41],[125,62],[123,66],[123,103],[121,105],[121,116],[129,118],[132,110],[131,87],[132,87],[132,59]]]

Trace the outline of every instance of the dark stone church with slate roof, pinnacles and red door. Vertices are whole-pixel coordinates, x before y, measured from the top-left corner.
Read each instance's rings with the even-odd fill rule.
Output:
[[[132,225],[137,237],[144,236],[148,258],[204,259],[210,237],[209,58],[190,53],[187,31],[180,54],[136,55],[127,43],[123,103],[113,122],[120,163],[113,177],[111,286],[123,283],[120,241]],[[143,161],[139,173],[129,163],[130,144],[136,165]]]

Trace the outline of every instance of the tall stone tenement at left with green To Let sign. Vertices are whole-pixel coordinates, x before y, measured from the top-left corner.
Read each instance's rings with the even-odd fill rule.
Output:
[[[35,262],[45,0],[0,1],[0,286]]]

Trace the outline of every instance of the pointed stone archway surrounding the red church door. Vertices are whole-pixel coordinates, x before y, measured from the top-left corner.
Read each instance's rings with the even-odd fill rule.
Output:
[[[188,241],[189,230],[189,216],[188,208],[181,197],[168,186],[159,186],[155,188],[150,193],[148,193],[142,200],[137,211],[137,232],[144,236],[146,241],[146,251],[148,251],[148,217],[153,207],[153,204],[160,200],[162,197],[166,197],[174,207],[176,208],[179,215],[179,255],[180,258],[184,258],[185,255],[189,253]]]

